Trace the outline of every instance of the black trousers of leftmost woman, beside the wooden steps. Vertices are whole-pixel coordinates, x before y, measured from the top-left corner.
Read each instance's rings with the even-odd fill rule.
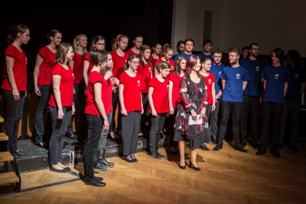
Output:
[[[2,90],[7,106],[6,124],[8,136],[11,138],[13,150],[17,151],[18,127],[22,116],[25,91],[19,91],[19,100],[13,98],[12,90]]]

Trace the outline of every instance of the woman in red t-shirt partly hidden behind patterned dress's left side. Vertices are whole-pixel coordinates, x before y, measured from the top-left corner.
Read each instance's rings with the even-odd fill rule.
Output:
[[[177,142],[173,141],[174,138],[173,127],[175,123],[177,106],[179,106],[179,103],[181,101],[180,82],[186,72],[186,62],[187,60],[183,56],[177,58],[174,70],[172,73],[170,73],[169,77],[169,107],[170,107],[169,123],[171,124],[170,148],[171,148],[171,153],[174,155],[177,154],[176,149],[178,149],[178,147],[177,147]]]

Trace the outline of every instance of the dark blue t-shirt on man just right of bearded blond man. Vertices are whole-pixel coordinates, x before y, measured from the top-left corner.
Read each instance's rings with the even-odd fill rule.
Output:
[[[239,60],[239,64],[247,69],[250,77],[250,80],[247,81],[247,86],[243,95],[260,97],[261,73],[265,67],[264,61],[260,59],[251,60],[250,58],[243,58]]]

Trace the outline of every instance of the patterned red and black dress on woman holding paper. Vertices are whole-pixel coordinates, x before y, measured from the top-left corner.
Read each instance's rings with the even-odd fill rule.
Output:
[[[176,120],[174,124],[174,141],[188,141],[189,148],[193,149],[205,142],[211,141],[206,134],[208,119],[205,115],[201,124],[189,125],[190,111],[194,110],[197,115],[202,108],[207,108],[208,94],[204,77],[200,76],[200,82],[194,83],[186,75],[180,82],[181,102],[177,107]]]

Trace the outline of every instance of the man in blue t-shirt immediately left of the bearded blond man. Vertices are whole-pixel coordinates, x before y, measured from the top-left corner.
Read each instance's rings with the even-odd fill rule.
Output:
[[[216,90],[216,109],[211,113],[211,125],[212,125],[212,143],[217,144],[217,133],[218,133],[218,114],[219,114],[219,107],[220,101],[222,97],[222,81],[221,81],[221,72],[224,67],[224,64],[221,62],[222,59],[222,51],[221,49],[217,48],[213,52],[213,63],[211,64],[211,70],[209,72],[213,73],[216,79],[215,82],[215,90]],[[221,110],[221,109],[220,109]],[[210,136],[209,136],[210,137]]]

